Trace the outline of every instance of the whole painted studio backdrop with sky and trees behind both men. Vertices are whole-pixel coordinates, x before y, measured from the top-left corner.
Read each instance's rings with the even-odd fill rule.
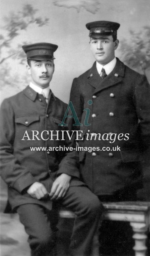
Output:
[[[150,0],[0,0],[0,102],[30,81],[21,46],[49,42],[58,45],[51,89],[68,103],[73,78],[95,61],[85,24],[96,20],[120,23],[116,56],[150,82]],[[23,227],[2,213],[7,194],[1,183],[0,255],[27,256]]]

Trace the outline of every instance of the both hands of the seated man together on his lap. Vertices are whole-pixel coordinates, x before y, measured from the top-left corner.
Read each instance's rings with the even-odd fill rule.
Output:
[[[70,186],[70,180],[71,176],[68,174],[61,174],[53,182],[50,193],[48,193],[42,183],[34,182],[29,189],[27,189],[27,193],[38,200],[46,195],[49,195],[51,200],[58,200],[65,196],[65,193],[68,191]]]

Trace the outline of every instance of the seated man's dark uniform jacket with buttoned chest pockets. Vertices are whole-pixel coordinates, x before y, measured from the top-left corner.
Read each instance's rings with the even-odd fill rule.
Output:
[[[43,97],[29,86],[17,95],[5,99],[1,105],[1,176],[8,185],[8,200],[15,208],[26,203],[36,203],[51,208],[50,200],[36,200],[27,194],[31,184],[38,181],[47,191],[55,178],[62,173],[72,176],[70,185],[79,185],[77,156],[66,151],[31,151],[30,147],[71,146],[66,140],[43,140],[40,134],[44,130],[63,130],[61,123],[67,104],[50,93],[48,104]],[[25,131],[32,139],[32,130],[38,131],[38,139],[24,137]],[[37,132],[35,132],[37,134]],[[46,136],[46,137],[44,137]],[[43,133],[44,139],[47,137]]]

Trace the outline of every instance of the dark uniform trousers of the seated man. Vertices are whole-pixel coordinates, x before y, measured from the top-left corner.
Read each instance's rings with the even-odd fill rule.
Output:
[[[86,186],[74,186],[68,189],[65,197],[59,200],[60,203],[61,206],[67,207],[76,214],[69,255],[90,255],[92,239],[103,211],[101,202]],[[23,204],[17,208],[17,212],[29,235],[31,255],[53,255],[52,248],[57,231],[55,228],[57,218],[52,216],[55,209],[49,212],[38,204]]]

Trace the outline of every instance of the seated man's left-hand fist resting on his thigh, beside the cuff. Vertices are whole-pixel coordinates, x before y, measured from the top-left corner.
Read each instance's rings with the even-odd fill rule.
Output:
[[[44,185],[40,182],[34,182],[30,188],[27,190],[27,193],[31,195],[33,198],[41,199],[44,197],[48,192]]]

